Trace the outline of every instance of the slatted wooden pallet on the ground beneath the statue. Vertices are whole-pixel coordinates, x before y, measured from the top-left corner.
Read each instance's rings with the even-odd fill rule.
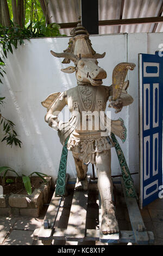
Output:
[[[90,177],[88,177],[90,180]],[[76,241],[86,242],[100,241],[102,243],[137,243],[141,245],[154,243],[151,231],[146,231],[139,207],[135,198],[127,198],[123,180],[121,182],[127,209],[133,230],[121,230],[120,233],[103,235],[101,231],[101,204],[100,198],[96,200],[99,207],[99,227],[95,229],[86,228],[87,203],[89,191],[76,191],[73,197],[55,197],[53,194],[46,216],[41,228],[34,231],[34,239],[41,240],[44,245],[52,245],[52,241]],[[62,224],[60,223],[62,220]]]

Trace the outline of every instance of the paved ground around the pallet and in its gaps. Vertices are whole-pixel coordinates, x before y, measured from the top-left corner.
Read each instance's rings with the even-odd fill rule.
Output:
[[[93,198],[91,192],[90,198]],[[95,197],[94,197],[95,199]],[[50,200],[50,199],[49,199]],[[48,206],[43,206],[39,218],[32,217],[5,217],[0,216],[0,245],[42,245],[41,241],[33,240],[33,232],[42,224]],[[97,225],[97,204],[88,202],[87,228]],[[69,209],[70,210],[70,209]],[[117,189],[116,215],[121,230],[131,230],[128,211],[120,188]],[[163,245],[163,199],[157,199],[141,210],[141,215],[147,231],[153,231],[154,245]],[[53,241],[54,245],[81,245],[84,243]],[[85,245],[106,245],[98,241],[87,242]],[[125,244],[124,244],[125,245]]]

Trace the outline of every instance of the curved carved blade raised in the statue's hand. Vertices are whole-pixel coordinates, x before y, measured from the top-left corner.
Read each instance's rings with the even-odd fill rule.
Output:
[[[113,96],[112,100],[117,100],[120,98],[122,93],[122,88],[124,86],[124,80],[127,76],[128,70],[134,70],[135,64],[134,63],[127,63],[122,62],[115,66],[112,72],[112,89],[113,89]]]

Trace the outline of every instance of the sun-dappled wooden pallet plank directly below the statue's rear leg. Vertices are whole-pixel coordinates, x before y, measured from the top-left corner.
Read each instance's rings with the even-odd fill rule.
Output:
[[[88,177],[90,180],[90,176]],[[74,191],[67,225],[67,241],[83,241],[85,237],[88,191]]]

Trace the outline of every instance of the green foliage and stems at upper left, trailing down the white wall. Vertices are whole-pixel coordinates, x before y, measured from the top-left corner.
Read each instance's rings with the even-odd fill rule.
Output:
[[[13,53],[13,47],[24,44],[24,39],[61,36],[57,23],[49,23],[49,0],[4,0],[2,16],[0,12],[0,83],[5,74],[5,58]],[[0,1],[0,8],[2,8]],[[65,35],[62,35],[65,36]],[[0,105],[5,97],[0,97]],[[4,118],[0,110],[0,125],[5,132],[2,141],[21,147],[21,141],[13,129],[15,124]]]

